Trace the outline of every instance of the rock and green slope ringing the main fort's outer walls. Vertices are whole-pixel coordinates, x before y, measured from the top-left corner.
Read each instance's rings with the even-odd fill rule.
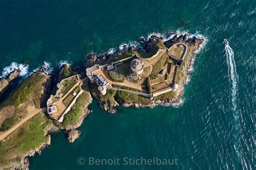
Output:
[[[116,106],[118,104],[122,104],[124,107],[150,107],[153,108],[157,105],[163,105],[163,106],[170,106],[170,105],[179,105],[181,103],[181,98],[184,91],[184,86],[187,83],[190,69],[193,67],[193,61],[196,58],[196,54],[200,51],[200,49],[204,46],[206,39],[202,36],[190,36],[187,33],[180,34],[177,32],[170,32],[166,36],[157,36],[152,35],[146,40],[145,38],[140,38],[141,45],[138,47],[135,46],[127,46],[124,45],[122,49],[119,51],[113,53],[113,54],[95,54],[91,53],[87,56],[86,66],[92,66],[96,63],[103,65],[105,63],[109,63],[112,61],[113,58],[117,58],[120,55],[125,54],[132,54],[134,51],[141,52],[142,54],[150,54],[154,48],[156,48],[156,45],[159,44],[159,42],[163,42],[164,46],[161,46],[161,48],[170,48],[172,45],[183,42],[188,47],[190,47],[190,50],[188,51],[188,57],[184,59],[184,63],[182,66],[181,71],[179,72],[179,88],[173,92],[169,92],[163,95],[159,95],[157,97],[154,97],[153,100],[149,100],[147,98],[135,95],[135,94],[129,94],[125,92],[120,91],[112,91],[107,90],[106,97],[101,96],[97,93],[97,90],[95,88],[91,88],[91,93],[93,96],[95,96],[98,101],[100,102],[100,107],[102,107],[105,111],[110,113],[115,113]],[[90,86],[93,86],[90,84]],[[126,100],[126,96],[130,96],[130,100]]]

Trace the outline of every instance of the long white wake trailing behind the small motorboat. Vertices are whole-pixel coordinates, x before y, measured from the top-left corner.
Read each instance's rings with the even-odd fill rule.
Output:
[[[232,112],[233,112],[234,122],[235,122],[234,148],[235,148],[235,152],[237,152],[238,154],[238,157],[240,157],[240,148],[241,148],[241,141],[239,138],[240,116],[239,116],[239,110],[237,109],[238,74],[237,74],[237,67],[235,65],[233,49],[230,47],[226,39],[224,40],[224,44],[225,44],[226,61],[228,66],[228,77],[229,77],[229,81],[232,83],[231,101],[232,101]]]

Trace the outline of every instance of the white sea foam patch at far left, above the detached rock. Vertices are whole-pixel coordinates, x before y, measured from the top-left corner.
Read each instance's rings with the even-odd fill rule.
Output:
[[[28,73],[29,65],[12,62],[10,66],[7,66],[3,69],[2,77],[8,76],[11,72],[13,72],[15,69],[20,70],[21,73],[19,73],[20,76],[24,76]]]

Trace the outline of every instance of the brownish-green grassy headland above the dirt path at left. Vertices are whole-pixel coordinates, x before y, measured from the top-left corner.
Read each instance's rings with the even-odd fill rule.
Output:
[[[28,111],[28,105],[35,105],[36,108],[44,107],[46,95],[42,94],[45,87],[48,87],[49,77],[44,73],[36,73],[26,78],[11,95],[0,104],[0,112],[3,115],[3,123],[0,131],[5,131],[15,125],[19,118],[24,118]],[[20,107],[20,105],[22,107]],[[11,107],[10,107],[11,106]],[[9,109],[8,109],[9,108]],[[12,109],[10,109],[12,108]]]

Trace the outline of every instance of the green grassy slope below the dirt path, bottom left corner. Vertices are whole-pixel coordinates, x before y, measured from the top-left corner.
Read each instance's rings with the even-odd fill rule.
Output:
[[[8,166],[11,162],[21,161],[21,156],[30,150],[35,150],[49,140],[44,136],[45,128],[52,121],[44,114],[37,114],[25,122],[8,138],[0,142],[0,167]]]

